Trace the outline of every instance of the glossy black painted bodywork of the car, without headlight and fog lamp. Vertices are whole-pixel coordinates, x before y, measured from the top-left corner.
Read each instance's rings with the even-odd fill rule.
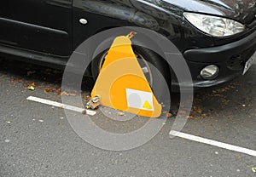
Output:
[[[184,11],[224,16],[245,24],[246,30],[232,37],[211,37],[191,26],[183,18]],[[188,0],[3,1],[0,6],[0,52],[64,67],[73,50],[97,32],[117,26],[142,26],[168,37],[184,54],[195,86],[208,87],[241,74],[241,71],[226,67],[231,55],[223,55],[222,50],[229,43],[251,38],[253,51],[255,14],[255,0],[189,0],[189,3]],[[80,24],[81,18],[88,20],[88,24]],[[246,44],[240,43],[237,47],[247,49]],[[211,49],[218,49],[218,59],[208,60],[204,55]],[[217,62],[219,60],[221,62]],[[241,65],[246,60],[243,59]],[[199,71],[212,63],[222,69],[218,79],[201,79]],[[175,78],[172,82],[175,85]]]

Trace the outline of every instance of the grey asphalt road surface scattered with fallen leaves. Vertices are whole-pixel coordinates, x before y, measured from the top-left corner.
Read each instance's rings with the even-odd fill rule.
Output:
[[[168,118],[159,134],[136,149],[106,151],[92,146],[75,133],[63,109],[26,100],[32,95],[61,102],[61,71],[12,60],[0,64],[1,177],[256,176],[256,157],[178,137],[170,139],[175,117]],[[256,64],[227,87],[196,94],[183,132],[255,151],[255,74]],[[27,89],[32,83],[34,91]],[[92,84],[90,78],[84,79],[84,99]],[[172,102],[175,111],[178,101]],[[103,117],[98,112],[91,119],[101,122]],[[139,123],[145,120],[140,119]],[[139,125],[102,123],[116,132]]]

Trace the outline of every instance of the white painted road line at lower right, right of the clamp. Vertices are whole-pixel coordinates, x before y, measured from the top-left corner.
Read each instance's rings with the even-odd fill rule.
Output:
[[[211,145],[211,146],[221,147],[221,148],[224,148],[224,149],[227,149],[227,150],[230,150],[230,151],[241,152],[241,153],[256,157],[256,151],[250,150],[250,149],[247,149],[247,148],[244,148],[244,147],[234,146],[234,145],[218,142],[216,140],[209,140],[209,139],[201,138],[199,136],[195,136],[195,135],[192,135],[192,134],[184,134],[182,132],[177,132],[177,131],[174,131],[174,130],[172,130],[170,132],[170,135],[177,136],[177,137],[187,139],[187,140],[194,140],[196,142],[204,143],[204,144]]]

